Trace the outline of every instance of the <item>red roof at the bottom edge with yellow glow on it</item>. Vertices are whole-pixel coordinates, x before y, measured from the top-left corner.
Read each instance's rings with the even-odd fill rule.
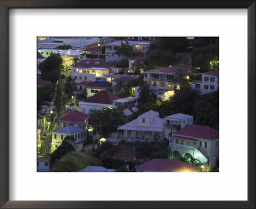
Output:
[[[154,158],[151,161],[145,162],[140,166],[136,166],[136,169],[142,171],[164,171],[164,172],[195,172],[199,168],[192,166],[186,162],[169,160],[169,159],[157,159]]]

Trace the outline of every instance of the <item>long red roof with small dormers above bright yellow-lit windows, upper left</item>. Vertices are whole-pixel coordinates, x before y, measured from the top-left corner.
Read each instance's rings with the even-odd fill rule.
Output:
[[[99,63],[99,64],[97,64]],[[80,59],[79,62],[77,62],[74,65],[74,68],[111,68],[115,66],[111,62],[105,62],[102,60],[90,60],[90,59]]]

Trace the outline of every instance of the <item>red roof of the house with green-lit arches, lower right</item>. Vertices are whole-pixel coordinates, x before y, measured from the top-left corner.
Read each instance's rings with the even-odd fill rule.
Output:
[[[189,137],[203,138],[208,140],[214,139],[214,133],[216,134],[215,138],[219,138],[219,131],[216,129],[212,129],[209,126],[200,126],[200,125],[190,125],[184,127],[184,129],[180,129],[173,133],[174,135],[183,135]]]

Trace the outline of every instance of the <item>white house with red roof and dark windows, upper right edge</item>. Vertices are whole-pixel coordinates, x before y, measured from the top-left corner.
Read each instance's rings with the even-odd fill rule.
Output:
[[[219,71],[195,74],[195,83],[191,89],[199,90],[200,94],[207,94],[219,89]]]

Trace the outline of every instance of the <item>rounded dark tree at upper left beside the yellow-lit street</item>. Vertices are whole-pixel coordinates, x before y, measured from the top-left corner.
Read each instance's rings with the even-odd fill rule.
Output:
[[[39,69],[42,71],[42,79],[56,83],[60,79],[63,59],[60,54],[51,54],[40,63]]]

